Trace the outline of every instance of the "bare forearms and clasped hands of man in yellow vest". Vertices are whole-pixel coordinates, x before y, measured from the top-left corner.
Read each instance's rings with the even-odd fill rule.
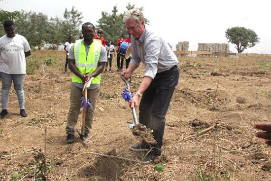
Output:
[[[102,72],[104,66],[105,66],[105,62],[99,62],[97,69],[94,72],[92,72],[90,76],[88,76],[88,73],[82,74],[77,70],[75,66],[75,59],[68,59],[69,70],[73,72],[75,75],[77,75],[78,77],[80,77],[83,84],[85,84],[91,77],[96,77],[97,75],[99,75]]]

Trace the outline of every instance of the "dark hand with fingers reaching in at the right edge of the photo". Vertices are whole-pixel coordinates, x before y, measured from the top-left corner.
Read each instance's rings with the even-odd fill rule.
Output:
[[[266,144],[271,146],[271,122],[260,122],[254,125],[254,128],[264,132],[257,132],[255,136],[266,140]]]

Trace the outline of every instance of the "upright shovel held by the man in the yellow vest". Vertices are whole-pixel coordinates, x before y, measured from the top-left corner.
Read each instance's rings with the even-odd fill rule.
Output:
[[[86,141],[88,138],[85,137],[85,122],[86,122],[86,111],[87,111],[87,100],[88,100],[88,87],[91,84],[91,81],[93,80],[94,77],[91,77],[84,85],[83,88],[83,96],[85,99],[85,102],[83,104],[83,112],[82,112],[82,127],[81,127],[81,133],[78,129],[76,129],[77,133],[79,134],[79,137]],[[86,109],[86,110],[84,110]]]

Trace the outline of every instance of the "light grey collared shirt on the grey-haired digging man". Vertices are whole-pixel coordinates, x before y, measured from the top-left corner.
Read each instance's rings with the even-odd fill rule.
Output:
[[[168,71],[175,65],[178,65],[178,59],[169,47],[169,44],[160,36],[144,29],[139,39],[132,40],[131,62],[136,65],[142,61],[145,65],[144,76],[154,79],[156,73]]]

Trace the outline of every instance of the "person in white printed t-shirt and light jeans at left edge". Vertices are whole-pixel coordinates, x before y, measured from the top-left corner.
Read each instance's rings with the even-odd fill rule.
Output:
[[[12,21],[5,20],[3,25],[6,35],[0,37],[0,77],[2,82],[0,118],[8,113],[7,101],[12,81],[20,105],[20,115],[26,117],[24,77],[26,57],[31,55],[30,46],[24,36],[15,34]]]

